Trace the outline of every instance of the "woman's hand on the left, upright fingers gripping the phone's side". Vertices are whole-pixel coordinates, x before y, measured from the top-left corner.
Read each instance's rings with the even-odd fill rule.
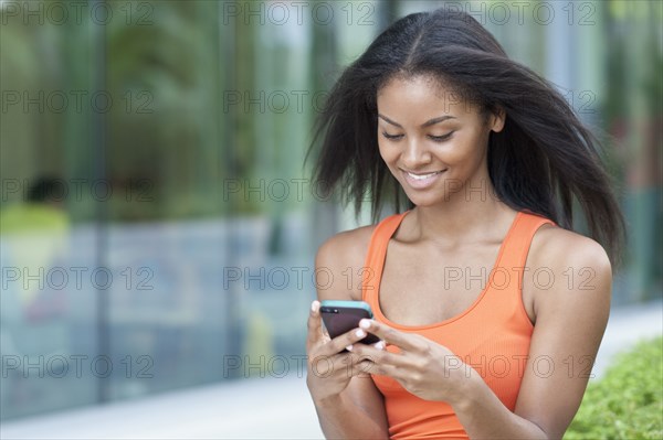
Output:
[[[332,340],[323,330],[319,310],[320,303],[313,301],[306,341],[306,384],[315,400],[339,395],[354,376],[366,375],[372,364],[368,358],[344,352],[347,346],[361,341],[366,332],[357,328]]]

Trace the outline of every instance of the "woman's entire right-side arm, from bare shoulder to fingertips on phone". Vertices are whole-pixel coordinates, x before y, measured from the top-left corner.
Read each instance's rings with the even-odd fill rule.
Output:
[[[608,257],[598,244],[554,229],[541,234],[552,239],[539,240],[541,250],[530,253],[535,256],[528,267],[550,268],[557,282],[548,290],[537,290],[526,277],[523,286],[534,299],[536,322],[514,412],[474,369],[457,368],[453,353],[423,336],[366,320],[362,328],[398,345],[401,353],[380,353],[359,344],[352,351],[371,356],[371,372],[393,377],[421,398],[449,401],[473,439],[561,438],[580,406],[589,379],[588,367],[606,329],[612,276]],[[564,276],[569,267],[576,275],[587,268],[592,279],[581,283],[576,277],[575,285],[569,286]],[[554,368],[537,375],[534,363],[544,356],[546,366],[550,359]]]

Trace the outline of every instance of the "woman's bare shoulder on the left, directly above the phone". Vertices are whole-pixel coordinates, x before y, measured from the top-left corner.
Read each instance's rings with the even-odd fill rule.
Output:
[[[376,225],[338,233],[326,239],[315,256],[319,299],[361,299],[361,267]]]

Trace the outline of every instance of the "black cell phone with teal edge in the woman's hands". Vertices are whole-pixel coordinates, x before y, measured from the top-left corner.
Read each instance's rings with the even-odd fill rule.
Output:
[[[349,332],[359,326],[359,321],[365,318],[372,319],[370,305],[364,301],[332,301],[320,302],[320,313],[325,329],[332,339]],[[367,334],[359,341],[362,344],[375,344],[380,339],[375,334]]]

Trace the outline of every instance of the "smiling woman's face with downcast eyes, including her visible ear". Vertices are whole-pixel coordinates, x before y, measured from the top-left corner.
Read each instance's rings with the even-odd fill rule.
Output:
[[[377,103],[380,155],[417,206],[480,192],[485,200],[488,135],[502,130],[503,116],[484,117],[425,76],[389,81]]]

